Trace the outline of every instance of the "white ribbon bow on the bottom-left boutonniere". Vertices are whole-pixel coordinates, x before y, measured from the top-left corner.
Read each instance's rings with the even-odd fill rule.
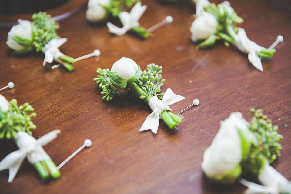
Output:
[[[45,146],[55,139],[60,132],[60,130],[49,132],[38,140],[26,132],[18,132],[15,141],[19,149],[8,154],[8,156],[0,162],[0,170],[9,169],[8,182],[13,181],[25,157],[27,157],[28,161],[32,164],[39,161],[50,160],[51,158],[45,153],[42,146]]]

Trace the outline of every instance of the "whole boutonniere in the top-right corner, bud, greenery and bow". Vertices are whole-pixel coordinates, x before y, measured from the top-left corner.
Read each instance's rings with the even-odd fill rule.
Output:
[[[261,58],[271,59],[275,53],[273,44],[269,48],[259,46],[249,40],[243,28],[236,25],[243,22],[228,2],[215,5],[207,0],[195,0],[196,19],[193,21],[190,31],[193,42],[202,41],[198,48],[212,46],[216,40],[223,40],[225,45],[232,44],[241,52],[248,54],[249,62],[254,67],[263,71]],[[280,41],[283,37],[280,36]]]

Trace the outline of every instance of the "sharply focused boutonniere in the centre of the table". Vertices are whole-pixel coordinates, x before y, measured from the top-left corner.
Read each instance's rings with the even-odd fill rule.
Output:
[[[113,64],[110,71],[98,68],[97,73],[94,81],[103,89],[103,100],[110,101],[114,96],[119,96],[119,90],[125,90],[149,104],[153,112],[146,118],[140,131],[150,129],[156,134],[159,119],[170,129],[182,122],[183,117],[172,112],[169,105],[185,98],[174,94],[170,88],[165,93],[160,93],[165,82],[161,75],[162,66],[149,64],[146,70],[141,71],[132,59],[122,57]]]

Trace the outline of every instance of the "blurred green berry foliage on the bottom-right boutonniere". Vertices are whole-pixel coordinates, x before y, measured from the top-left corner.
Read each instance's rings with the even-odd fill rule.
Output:
[[[251,109],[251,113],[253,119],[249,130],[256,136],[258,144],[251,146],[248,159],[242,162],[242,165],[244,172],[258,176],[266,164],[272,163],[280,156],[282,147],[278,141],[283,136],[278,134],[278,126],[273,126],[272,121],[263,115],[262,109]]]

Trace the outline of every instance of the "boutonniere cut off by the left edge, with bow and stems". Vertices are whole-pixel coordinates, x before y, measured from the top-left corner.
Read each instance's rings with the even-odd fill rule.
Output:
[[[19,150],[10,153],[0,162],[0,170],[9,169],[8,182],[12,182],[25,157],[35,166],[42,181],[60,176],[54,162],[42,148],[55,139],[60,131],[55,130],[34,139],[30,131],[36,128],[31,121],[36,116],[33,111],[28,103],[18,107],[15,99],[8,102],[0,95],[0,139],[14,139],[19,147]]]

